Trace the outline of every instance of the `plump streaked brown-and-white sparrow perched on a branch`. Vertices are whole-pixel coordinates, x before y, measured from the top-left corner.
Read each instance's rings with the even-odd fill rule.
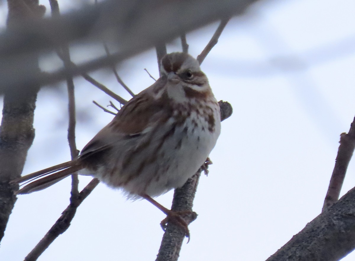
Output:
[[[44,189],[74,172],[92,175],[129,197],[149,200],[188,236],[179,214],[152,197],[181,187],[206,161],[220,133],[220,110],[192,56],[167,54],[161,71],[162,77],[124,105],[76,159],[13,180],[40,178],[16,194]]]

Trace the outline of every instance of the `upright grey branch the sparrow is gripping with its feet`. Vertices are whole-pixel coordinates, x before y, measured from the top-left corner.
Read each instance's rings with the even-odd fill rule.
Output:
[[[221,110],[221,121],[229,118],[232,115],[233,109],[228,102],[222,100],[218,102]],[[208,165],[206,166],[206,168]],[[198,180],[201,172],[205,170],[201,167],[192,178],[188,179],[184,186],[175,189],[173,204],[171,210],[173,211],[192,211],[193,200],[195,199]],[[188,223],[191,223],[191,220]],[[178,260],[182,241],[185,233],[174,223],[168,223],[165,233],[163,235],[162,243],[160,245],[159,253],[155,261],[176,261]]]

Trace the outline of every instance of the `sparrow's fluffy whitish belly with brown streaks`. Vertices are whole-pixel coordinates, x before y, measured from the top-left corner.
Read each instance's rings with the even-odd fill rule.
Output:
[[[188,122],[159,129],[153,135],[137,138],[135,146],[116,152],[114,165],[102,165],[95,176],[110,187],[121,187],[129,196],[159,196],[181,187],[204,163],[217,141],[217,131]]]

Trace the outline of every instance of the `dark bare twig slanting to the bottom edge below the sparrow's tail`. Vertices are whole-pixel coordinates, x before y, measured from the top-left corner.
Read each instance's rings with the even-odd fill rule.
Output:
[[[39,241],[39,243],[32,249],[32,251],[25,257],[25,261],[34,261],[44,252],[45,249],[58,237],[64,233],[70,226],[76,208],[83,202],[84,199],[93,191],[99,184],[98,179],[92,179],[90,183],[78,194],[76,205],[70,204],[61,214],[60,218],[48,230],[47,234]]]

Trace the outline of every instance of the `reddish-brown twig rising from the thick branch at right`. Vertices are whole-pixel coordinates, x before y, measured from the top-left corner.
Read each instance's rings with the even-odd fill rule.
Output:
[[[339,149],[337,158],[335,159],[335,166],[333,169],[332,177],[329,182],[326,198],[322,211],[325,211],[334,202],[339,199],[340,190],[344,182],[346,170],[355,149],[355,118],[350,125],[349,133],[340,134]]]

